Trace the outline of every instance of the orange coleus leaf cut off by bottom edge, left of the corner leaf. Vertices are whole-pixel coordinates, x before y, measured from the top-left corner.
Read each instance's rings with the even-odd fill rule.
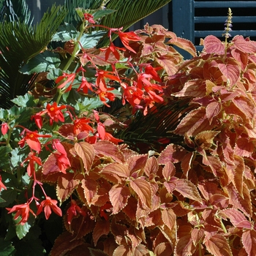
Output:
[[[208,249],[208,252],[214,256],[233,255],[227,239],[221,234],[215,234],[214,236],[211,236],[211,238],[205,242],[205,245],[206,249]]]

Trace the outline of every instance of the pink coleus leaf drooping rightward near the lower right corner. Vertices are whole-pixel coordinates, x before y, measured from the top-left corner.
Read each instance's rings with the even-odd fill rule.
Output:
[[[251,222],[241,213],[241,211],[236,210],[235,208],[227,208],[219,212],[219,217],[223,219],[230,219],[230,222],[234,227],[250,229],[252,227]]]

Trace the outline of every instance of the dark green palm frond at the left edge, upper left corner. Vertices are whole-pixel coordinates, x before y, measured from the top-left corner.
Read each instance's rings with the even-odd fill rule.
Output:
[[[0,23],[1,108],[10,108],[10,99],[26,93],[32,76],[20,74],[18,70],[48,45],[65,15],[64,7],[54,5],[37,26],[20,20]]]

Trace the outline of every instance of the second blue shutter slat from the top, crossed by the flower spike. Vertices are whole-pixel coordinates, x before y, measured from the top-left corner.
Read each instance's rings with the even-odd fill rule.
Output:
[[[256,15],[256,14],[255,14]],[[195,23],[225,23],[226,16],[208,16],[208,17],[195,17]],[[233,23],[256,23],[256,16],[233,16]]]

